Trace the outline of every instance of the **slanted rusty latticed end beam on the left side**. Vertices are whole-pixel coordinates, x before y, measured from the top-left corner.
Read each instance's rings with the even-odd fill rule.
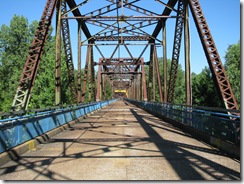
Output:
[[[46,2],[20,77],[20,82],[12,104],[13,110],[27,109],[56,4],[57,0],[47,0]]]

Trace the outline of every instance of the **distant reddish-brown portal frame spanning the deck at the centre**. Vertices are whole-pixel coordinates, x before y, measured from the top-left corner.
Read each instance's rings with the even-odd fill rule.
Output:
[[[115,48],[115,51],[117,49]],[[110,76],[110,81],[112,82],[113,90],[115,89],[129,89],[132,86],[135,87],[139,84],[139,78],[136,77],[140,75],[142,90],[146,90],[146,80],[145,80],[145,70],[143,58],[114,58],[114,54],[110,58],[100,58],[98,65],[98,80],[97,80],[97,95],[96,100],[101,99],[102,88],[102,76]],[[103,70],[102,66],[106,66]],[[142,70],[139,71],[139,67],[142,66]],[[136,80],[136,82],[135,82]],[[137,81],[138,80],[138,81]],[[130,83],[128,83],[131,81]],[[134,82],[133,82],[134,81]],[[129,85],[130,84],[130,85]],[[133,84],[131,86],[131,84]],[[137,86],[138,88],[138,86]],[[138,93],[142,94],[140,88],[134,89]],[[139,97],[139,96],[138,96]],[[143,92],[143,99],[147,100],[147,93]]]

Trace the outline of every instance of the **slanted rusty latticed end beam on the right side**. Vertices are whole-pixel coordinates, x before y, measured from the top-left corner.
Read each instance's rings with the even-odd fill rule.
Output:
[[[189,2],[214,82],[222,96],[223,103],[226,109],[239,109],[200,3],[198,0],[189,0]]]

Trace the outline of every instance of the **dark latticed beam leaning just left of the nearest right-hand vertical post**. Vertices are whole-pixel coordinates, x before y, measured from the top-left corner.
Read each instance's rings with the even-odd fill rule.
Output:
[[[174,36],[174,47],[171,60],[171,70],[170,70],[170,79],[169,79],[169,89],[168,89],[168,103],[174,103],[174,93],[175,93],[175,84],[178,74],[178,63],[180,57],[180,47],[182,39],[182,31],[184,27],[184,13],[185,5],[183,0],[178,1],[178,16],[176,19],[175,25],[175,36]]]

